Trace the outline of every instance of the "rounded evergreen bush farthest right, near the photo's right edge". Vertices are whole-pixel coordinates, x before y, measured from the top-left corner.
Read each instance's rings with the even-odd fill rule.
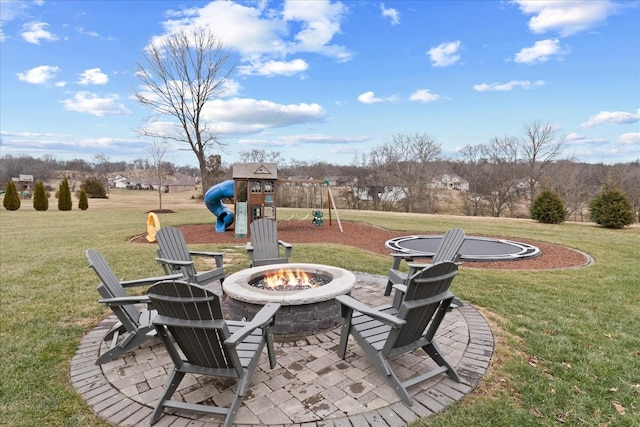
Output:
[[[634,212],[629,198],[611,179],[589,204],[589,216],[596,224],[607,228],[623,228],[633,224]]]

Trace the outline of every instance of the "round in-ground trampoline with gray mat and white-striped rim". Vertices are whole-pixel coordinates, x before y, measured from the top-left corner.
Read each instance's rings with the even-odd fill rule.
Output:
[[[385,246],[394,252],[416,257],[431,257],[438,248],[441,235],[402,236],[387,240]],[[527,243],[490,237],[467,236],[460,248],[461,261],[513,261],[535,258],[542,252]]]

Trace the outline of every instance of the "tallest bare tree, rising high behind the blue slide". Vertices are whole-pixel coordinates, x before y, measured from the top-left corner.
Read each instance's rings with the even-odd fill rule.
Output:
[[[154,110],[151,121],[162,116],[177,121],[175,132],[165,133],[151,126],[140,132],[187,144],[198,159],[204,190],[215,179],[208,173],[207,154],[212,147],[223,144],[203,113],[207,102],[225,90],[234,68],[227,65],[229,56],[213,32],[196,28],[152,42],[143,53],[143,63],[136,67],[143,87],[134,96]]]

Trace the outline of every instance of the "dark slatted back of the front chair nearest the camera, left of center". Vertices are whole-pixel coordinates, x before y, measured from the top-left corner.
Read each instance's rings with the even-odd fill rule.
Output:
[[[156,283],[147,295],[158,312],[157,321],[170,318],[167,328],[187,362],[224,370],[227,376],[229,371],[241,375],[236,350],[224,345],[231,333],[218,295],[183,281]]]

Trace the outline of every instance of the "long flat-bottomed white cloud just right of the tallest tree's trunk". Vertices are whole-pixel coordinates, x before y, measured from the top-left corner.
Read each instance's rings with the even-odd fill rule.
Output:
[[[271,101],[231,98],[208,102],[202,112],[220,134],[250,134],[265,129],[320,122],[326,112],[319,104],[277,104]]]

